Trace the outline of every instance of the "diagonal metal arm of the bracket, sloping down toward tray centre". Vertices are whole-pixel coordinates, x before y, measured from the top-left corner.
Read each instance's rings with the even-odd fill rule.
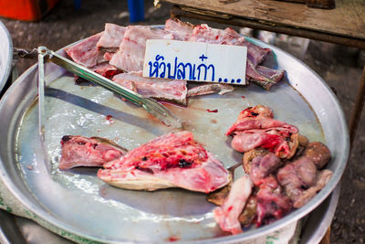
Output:
[[[133,102],[136,105],[141,106],[146,111],[151,113],[152,116],[161,120],[167,125],[171,125],[174,128],[181,128],[182,123],[169,111],[166,107],[164,107],[161,103],[154,101],[149,98],[142,97],[139,93],[134,92],[133,90],[126,89],[119,84],[112,82],[111,80],[106,79],[103,76],[100,76],[98,73],[95,73],[89,69],[86,69],[77,63],[69,60],[68,58],[62,57],[55,53],[52,50],[49,50],[46,47],[39,47],[38,54],[45,53],[45,57],[47,61],[51,61],[58,66],[68,69],[72,73],[78,75],[79,77],[89,80],[107,90],[115,92],[116,94],[122,96],[128,101]],[[40,68],[40,67],[39,67]]]

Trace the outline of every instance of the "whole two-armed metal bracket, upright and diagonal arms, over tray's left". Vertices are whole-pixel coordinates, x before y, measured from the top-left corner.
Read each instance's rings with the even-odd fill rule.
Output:
[[[19,57],[23,58],[34,58],[35,49],[31,52],[26,52],[22,49],[17,49],[17,54]],[[29,57],[27,57],[29,56]],[[112,82],[111,80],[106,79],[103,76],[100,76],[98,73],[95,73],[89,69],[86,69],[77,63],[69,60],[68,58],[62,57],[55,53],[54,51],[46,48],[39,47],[37,48],[37,56],[38,56],[38,94],[39,94],[39,133],[44,138],[44,120],[45,120],[45,71],[44,71],[44,62],[51,61],[58,66],[68,69],[68,71],[78,75],[79,77],[89,80],[107,90],[113,91],[114,93],[120,95],[124,99],[133,102],[134,104],[141,106],[143,109],[151,113],[152,116],[159,119],[166,125],[172,126],[173,128],[181,128],[182,123],[169,111],[166,107],[164,107],[161,103],[154,101],[150,98],[144,98],[137,92],[133,90],[126,89],[119,84]]]

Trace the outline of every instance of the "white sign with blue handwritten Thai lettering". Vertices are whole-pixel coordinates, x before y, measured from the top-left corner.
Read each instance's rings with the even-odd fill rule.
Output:
[[[245,85],[246,58],[242,46],[149,39],[143,76]]]

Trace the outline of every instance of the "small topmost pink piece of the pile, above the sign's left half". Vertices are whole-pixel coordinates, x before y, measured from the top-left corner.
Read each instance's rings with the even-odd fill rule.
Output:
[[[165,30],[172,33],[174,40],[188,40],[193,34],[194,26],[179,19],[169,18],[165,23]]]

